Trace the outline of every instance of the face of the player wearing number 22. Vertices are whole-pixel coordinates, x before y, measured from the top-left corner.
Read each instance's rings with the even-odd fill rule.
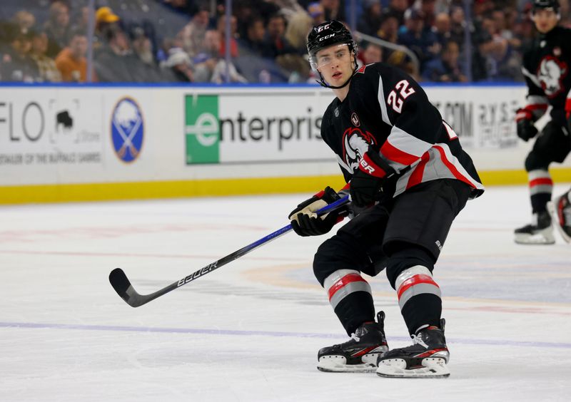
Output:
[[[332,86],[339,86],[353,74],[353,54],[348,45],[333,45],[315,55],[318,71]]]

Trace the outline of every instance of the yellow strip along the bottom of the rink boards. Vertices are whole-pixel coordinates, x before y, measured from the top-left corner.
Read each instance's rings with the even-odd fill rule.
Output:
[[[553,180],[571,182],[571,168],[550,170]],[[480,172],[484,185],[523,185],[524,170]],[[178,180],[164,182],[108,182],[61,185],[0,186],[0,204],[29,202],[79,202],[144,200],[176,197],[217,197],[225,195],[287,194],[316,192],[325,186],[345,185],[341,175],[311,177],[262,177],[246,179]]]

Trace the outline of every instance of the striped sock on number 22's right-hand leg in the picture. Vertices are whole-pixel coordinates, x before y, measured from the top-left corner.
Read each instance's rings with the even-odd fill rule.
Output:
[[[405,269],[398,275],[395,289],[409,334],[415,334],[421,326],[440,325],[440,287],[427,267],[416,265]]]

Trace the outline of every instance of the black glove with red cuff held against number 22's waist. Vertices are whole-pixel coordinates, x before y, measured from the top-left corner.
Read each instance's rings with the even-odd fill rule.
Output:
[[[383,188],[383,185],[388,184],[386,182],[388,177],[394,176],[395,173],[377,151],[368,150],[360,160],[359,169],[353,174],[350,182],[351,202],[357,207],[366,207],[375,201],[393,197],[394,188],[388,188],[393,186]]]

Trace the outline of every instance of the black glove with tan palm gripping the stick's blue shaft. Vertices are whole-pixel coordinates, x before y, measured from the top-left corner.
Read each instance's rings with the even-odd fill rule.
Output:
[[[315,211],[339,199],[339,195],[333,188],[325,187],[325,190],[302,202],[289,215],[293,231],[300,236],[319,236],[329,232],[337,222],[343,220],[346,209],[341,208],[320,217],[315,214]]]

